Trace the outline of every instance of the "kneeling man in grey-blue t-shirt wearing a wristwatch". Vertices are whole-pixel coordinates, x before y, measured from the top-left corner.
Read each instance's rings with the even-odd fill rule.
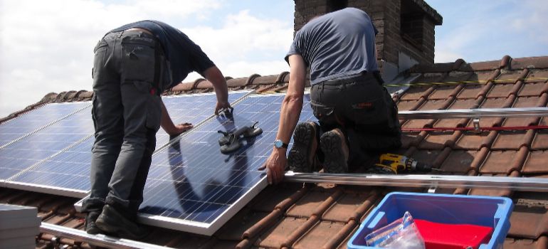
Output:
[[[275,146],[263,166],[269,183],[283,179],[286,164],[293,171],[313,171],[318,147],[324,172],[344,173],[371,162],[375,153],[401,146],[397,107],[382,86],[376,62],[377,32],[371,18],[354,8],[313,18],[297,31],[285,56],[290,80]],[[297,124],[307,68],[310,103],[320,126]],[[294,143],[286,158],[291,134]]]

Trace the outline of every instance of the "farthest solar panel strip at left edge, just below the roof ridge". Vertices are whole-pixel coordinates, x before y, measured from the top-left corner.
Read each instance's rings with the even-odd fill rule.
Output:
[[[0,148],[73,112],[89,107],[90,102],[48,104],[0,125]]]

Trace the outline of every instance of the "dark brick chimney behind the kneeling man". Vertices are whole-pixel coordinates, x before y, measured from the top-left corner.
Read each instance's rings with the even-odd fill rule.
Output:
[[[294,0],[295,32],[314,16],[346,7],[362,9],[379,30],[376,49],[383,74],[434,62],[434,27],[440,14],[423,0]],[[391,80],[393,77],[388,77]],[[386,77],[385,77],[386,80]]]

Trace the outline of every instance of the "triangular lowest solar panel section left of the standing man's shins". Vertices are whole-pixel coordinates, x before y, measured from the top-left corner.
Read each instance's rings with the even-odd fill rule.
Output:
[[[74,147],[42,161],[9,179],[9,186],[83,198],[90,191],[91,147],[95,139],[90,137]]]

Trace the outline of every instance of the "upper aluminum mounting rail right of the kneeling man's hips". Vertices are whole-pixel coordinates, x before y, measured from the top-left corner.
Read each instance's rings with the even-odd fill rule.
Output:
[[[479,117],[539,117],[548,116],[548,107],[523,108],[477,108],[454,110],[400,111],[398,116],[403,120],[440,119],[440,118],[479,118]]]

